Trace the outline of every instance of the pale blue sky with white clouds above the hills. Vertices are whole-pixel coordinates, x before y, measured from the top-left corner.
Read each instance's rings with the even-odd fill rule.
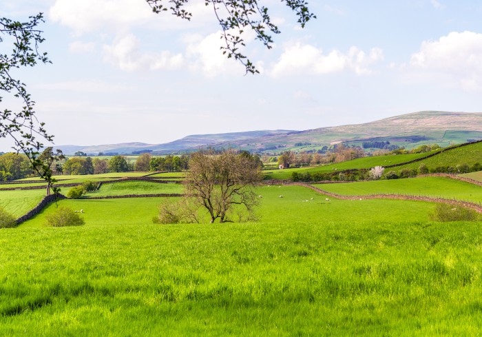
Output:
[[[281,33],[271,49],[244,34],[256,75],[222,55],[220,26],[202,0],[189,1],[191,21],[154,14],[144,0],[0,0],[0,17],[44,13],[41,51],[52,64],[13,75],[56,145],[482,112],[479,0],[311,0],[317,19],[305,28],[284,2],[259,2]],[[19,104],[0,96],[1,110]],[[0,139],[0,150],[11,145]]]

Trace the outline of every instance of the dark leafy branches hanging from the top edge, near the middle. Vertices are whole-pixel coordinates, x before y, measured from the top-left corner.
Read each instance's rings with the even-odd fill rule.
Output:
[[[160,13],[170,10],[172,14],[181,19],[191,20],[192,14],[185,8],[189,0],[145,0],[153,12]],[[192,1],[191,1],[192,2]],[[280,30],[273,23],[269,8],[263,6],[263,0],[205,0],[206,6],[211,6],[219,25],[222,28],[221,39],[224,45],[222,53],[229,59],[232,57],[240,61],[246,73],[255,74],[259,71],[253,62],[240,50],[244,47],[243,34],[247,30],[255,33],[256,39],[261,41],[266,48],[271,49],[273,44],[272,34],[280,34]],[[306,23],[316,16],[308,9],[306,0],[281,0],[297,16],[297,21],[304,28]]]

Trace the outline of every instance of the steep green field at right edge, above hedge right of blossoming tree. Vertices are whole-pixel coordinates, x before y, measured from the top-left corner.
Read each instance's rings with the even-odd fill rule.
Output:
[[[422,163],[427,165],[429,168],[435,168],[438,166],[456,167],[459,164],[467,164],[470,166],[474,165],[475,163],[482,163],[482,143],[457,147],[452,150],[441,152],[440,154],[437,154],[437,156],[423,159],[423,161],[419,161],[417,163],[387,168],[386,170],[394,170],[398,172],[404,168],[418,169]]]

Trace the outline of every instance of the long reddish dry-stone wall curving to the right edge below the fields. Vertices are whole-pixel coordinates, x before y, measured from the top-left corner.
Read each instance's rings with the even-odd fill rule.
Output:
[[[396,199],[396,200],[410,200],[410,201],[427,201],[430,203],[447,203],[450,205],[457,205],[466,208],[470,208],[477,213],[482,214],[482,205],[478,203],[472,203],[470,201],[459,201],[455,199],[447,199],[447,198],[434,198],[431,196],[412,196],[408,194],[366,194],[366,195],[342,195],[333,192],[328,192],[322,190],[321,188],[308,185],[306,183],[292,183],[292,185],[299,185],[303,187],[308,187],[309,189],[324,194],[326,196],[331,196],[333,198],[341,199],[341,200],[363,200],[363,199]]]

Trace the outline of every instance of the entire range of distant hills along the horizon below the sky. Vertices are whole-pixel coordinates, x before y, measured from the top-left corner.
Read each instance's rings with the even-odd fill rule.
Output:
[[[157,154],[195,151],[199,147],[236,147],[264,154],[284,150],[321,150],[337,143],[359,145],[388,142],[408,149],[437,143],[443,147],[482,139],[482,113],[423,111],[402,114],[364,124],[319,127],[305,131],[262,130],[225,134],[195,134],[164,144],[122,143],[111,145],[59,146],[66,154],[151,150]],[[367,149],[369,150],[369,149]]]

